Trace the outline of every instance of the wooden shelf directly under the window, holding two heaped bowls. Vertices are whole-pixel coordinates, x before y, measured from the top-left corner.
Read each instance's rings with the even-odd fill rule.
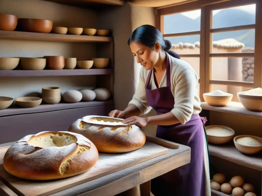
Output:
[[[230,114],[241,114],[254,118],[262,118],[262,112],[249,111],[245,109],[240,102],[231,101],[225,107],[210,106],[206,102],[201,102],[201,108],[210,111],[225,112]]]

